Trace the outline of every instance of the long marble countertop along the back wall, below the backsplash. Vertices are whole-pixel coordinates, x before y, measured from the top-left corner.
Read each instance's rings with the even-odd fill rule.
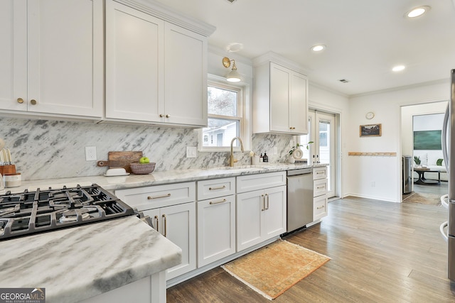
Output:
[[[190,182],[207,179],[218,179],[223,177],[236,177],[240,175],[252,175],[264,172],[279,172],[286,170],[296,170],[299,168],[308,167],[323,167],[326,164],[320,165],[304,165],[304,164],[284,164],[269,163],[267,165],[242,165],[237,167],[213,167],[206,169],[193,170],[168,170],[166,172],[152,172],[149,175],[127,175],[117,177],[105,177],[104,175],[90,177],[71,177],[58,179],[44,180],[26,180],[22,181],[20,187],[6,188],[6,191],[23,192],[24,189],[30,191],[36,190],[38,187],[47,189],[48,187],[58,188],[66,185],[74,187],[77,184],[82,186],[88,184],[98,184],[100,187],[108,190],[127,189],[133,187],[145,187],[158,184],[169,184],[178,182]]]

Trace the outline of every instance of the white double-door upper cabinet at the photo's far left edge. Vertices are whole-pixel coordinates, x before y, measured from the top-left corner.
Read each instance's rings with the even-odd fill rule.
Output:
[[[102,117],[102,0],[3,0],[0,28],[1,111]]]

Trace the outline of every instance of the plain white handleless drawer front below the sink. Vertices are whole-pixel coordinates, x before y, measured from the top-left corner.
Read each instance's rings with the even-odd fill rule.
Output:
[[[286,185],[286,172],[269,172],[237,177],[237,194]]]

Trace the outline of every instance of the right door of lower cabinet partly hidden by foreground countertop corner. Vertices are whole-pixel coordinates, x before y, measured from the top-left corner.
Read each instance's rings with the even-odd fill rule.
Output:
[[[196,269],[196,202],[164,207],[161,228],[166,238],[182,249],[182,263],[169,268],[166,280]]]

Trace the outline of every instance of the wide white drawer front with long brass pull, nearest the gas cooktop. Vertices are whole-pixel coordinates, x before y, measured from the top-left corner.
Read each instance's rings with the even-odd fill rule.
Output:
[[[138,211],[196,201],[196,182],[119,189],[115,195]]]

